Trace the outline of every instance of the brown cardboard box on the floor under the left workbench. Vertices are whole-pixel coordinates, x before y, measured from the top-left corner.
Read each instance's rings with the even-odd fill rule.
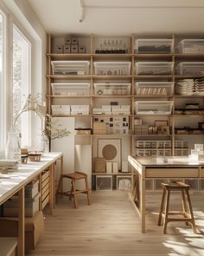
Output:
[[[17,218],[0,218],[0,237],[17,237]],[[34,250],[44,233],[44,219],[41,211],[32,218],[25,218],[25,250]]]

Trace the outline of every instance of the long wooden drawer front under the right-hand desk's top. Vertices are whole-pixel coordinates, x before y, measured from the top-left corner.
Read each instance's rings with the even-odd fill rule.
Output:
[[[147,178],[199,178],[198,167],[147,167]]]

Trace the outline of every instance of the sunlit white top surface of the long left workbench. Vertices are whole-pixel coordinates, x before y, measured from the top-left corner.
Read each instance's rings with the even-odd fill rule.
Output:
[[[62,153],[45,153],[41,155],[41,161],[29,161],[18,167],[15,172],[0,174],[0,205],[61,156]]]

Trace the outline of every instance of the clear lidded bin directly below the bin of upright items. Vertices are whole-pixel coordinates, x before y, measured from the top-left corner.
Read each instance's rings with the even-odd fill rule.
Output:
[[[173,102],[135,102],[137,115],[170,115]]]

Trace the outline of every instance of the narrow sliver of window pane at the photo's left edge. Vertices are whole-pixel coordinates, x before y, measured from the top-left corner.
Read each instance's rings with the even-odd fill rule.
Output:
[[[3,150],[3,47],[4,17],[0,10],[0,151]]]

